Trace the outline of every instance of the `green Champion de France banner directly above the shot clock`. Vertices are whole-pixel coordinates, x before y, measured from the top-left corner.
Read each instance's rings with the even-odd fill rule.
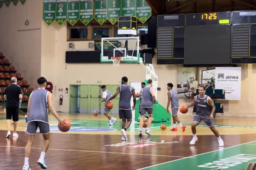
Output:
[[[136,16],[136,0],[122,0],[122,16]]]

